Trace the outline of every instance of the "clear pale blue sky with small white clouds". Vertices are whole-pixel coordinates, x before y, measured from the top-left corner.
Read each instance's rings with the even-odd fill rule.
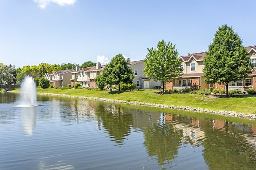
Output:
[[[207,51],[227,24],[256,45],[256,0],[0,0],[0,63],[144,59],[160,40],[179,56]]]

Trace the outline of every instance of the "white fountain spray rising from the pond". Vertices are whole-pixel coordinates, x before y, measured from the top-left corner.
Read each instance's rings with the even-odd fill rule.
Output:
[[[35,82],[32,77],[25,77],[21,83],[20,105],[17,107],[34,107],[36,104]]]

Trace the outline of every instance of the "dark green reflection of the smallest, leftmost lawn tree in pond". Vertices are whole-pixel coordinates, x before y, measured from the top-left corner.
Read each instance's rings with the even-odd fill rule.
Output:
[[[106,105],[105,103],[99,103],[95,112],[98,121],[102,122],[104,130],[113,138],[111,141],[123,143],[134,125],[132,114],[120,106]]]

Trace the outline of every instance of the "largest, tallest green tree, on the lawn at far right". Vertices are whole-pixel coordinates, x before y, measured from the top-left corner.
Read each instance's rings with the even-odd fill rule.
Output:
[[[228,83],[245,79],[252,70],[249,54],[239,35],[230,26],[218,27],[204,58],[204,81],[225,84],[228,96]]]

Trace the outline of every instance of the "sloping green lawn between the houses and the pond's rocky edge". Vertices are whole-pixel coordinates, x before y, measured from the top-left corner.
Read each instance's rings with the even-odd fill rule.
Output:
[[[14,90],[17,91],[17,90]],[[125,101],[147,102],[155,104],[189,106],[193,108],[205,108],[209,110],[237,111],[243,113],[256,113],[255,96],[233,96],[230,98],[211,98],[198,94],[155,94],[159,90],[140,91],[90,91],[87,89],[41,89],[38,93],[67,94],[70,96],[101,97]]]

